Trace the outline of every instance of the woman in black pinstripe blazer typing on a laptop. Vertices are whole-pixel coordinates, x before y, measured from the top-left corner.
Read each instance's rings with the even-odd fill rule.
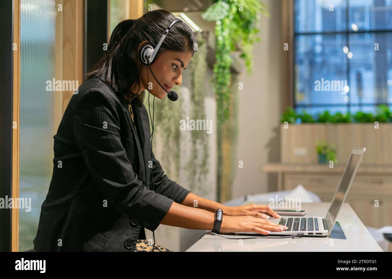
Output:
[[[284,230],[267,221],[267,214],[279,217],[268,206],[227,207],[196,196],[167,178],[150,151],[144,90],[152,88],[159,99],[166,92],[139,55],[145,44],[158,44],[174,19],[158,10],[120,22],[107,52],[72,96],[54,135],[53,176],[33,241],[36,251],[151,250],[144,228],[212,230],[218,208],[224,216],[220,233]],[[181,85],[195,43],[183,22],[163,40],[151,70],[167,90]],[[167,249],[154,246],[162,250]]]

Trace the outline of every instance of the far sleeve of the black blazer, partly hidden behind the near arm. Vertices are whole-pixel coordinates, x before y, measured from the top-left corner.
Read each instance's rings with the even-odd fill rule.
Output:
[[[176,182],[167,177],[161,167],[161,164],[155,158],[154,152],[152,152],[152,164],[152,181],[154,182],[155,192],[173,199],[176,203],[182,203],[191,191],[178,185]]]

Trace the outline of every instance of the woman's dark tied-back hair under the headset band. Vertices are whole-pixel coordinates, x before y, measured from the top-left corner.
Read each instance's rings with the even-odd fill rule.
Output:
[[[143,41],[148,41],[153,47],[156,47],[167,26],[175,18],[169,11],[155,10],[143,14],[136,20],[128,19],[120,22],[110,36],[107,51],[93,69],[87,73],[85,80],[104,74],[106,83],[113,88],[117,95],[125,95],[131,100],[138,96],[138,104],[141,105],[144,100],[144,92],[140,95],[131,92],[131,87],[135,85],[138,88],[137,92],[140,90],[136,64],[139,61],[138,47]],[[154,60],[163,51],[189,51],[193,56],[195,43],[196,38],[192,29],[184,22],[177,22],[163,40]],[[141,49],[142,47],[139,51]]]

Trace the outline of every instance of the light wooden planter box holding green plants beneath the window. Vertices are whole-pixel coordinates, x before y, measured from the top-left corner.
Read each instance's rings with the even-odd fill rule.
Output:
[[[362,163],[392,164],[392,123],[281,124],[281,163],[318,163],[315,143],[336,143],[339,163],[347,163],[355,147],[365,147]]]

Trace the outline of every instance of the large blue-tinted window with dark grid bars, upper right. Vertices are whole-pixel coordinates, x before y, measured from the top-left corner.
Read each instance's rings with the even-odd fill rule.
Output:
[[[294,0],[294,106],[392,108],[392,0]]]

